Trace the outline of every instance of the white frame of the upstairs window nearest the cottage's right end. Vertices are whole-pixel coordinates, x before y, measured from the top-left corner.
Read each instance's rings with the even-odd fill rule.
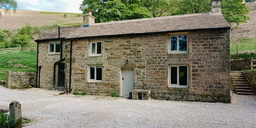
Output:
[[[179,51],[180,48],[179,48],[179,36],[182,36],[182,35],[186,35],[187,36],[187,50],[186,51]],[[171,45],[171,37],[172,36],[177,36],[177,50],[172,50],[172,45]],[[170,53],[188,53],[188,34],[174,34],[174,35],[169,35],[169,52]]]

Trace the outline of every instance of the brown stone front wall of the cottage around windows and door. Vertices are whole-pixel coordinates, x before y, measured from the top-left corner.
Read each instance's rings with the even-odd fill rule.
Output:
[[[230,102],[229,32],[189,32],[189,53],[185,54],[168,54],[168,36],[157,34],[74,40],[71,88],[94,95],[110,96],[113,92],[122,95],[121,69],[134,68],[134,88],[151,90],[154,99]],[[103,42],[102,56],[89,56],[90,42],[93,41]],[[70,41],[64,49],[66,78],[69,78]],[[41,50],[48,50],[47,45]],[[41,74],[44,77],[43,87],[47,88],[52,85],[49,78],[56,60],[52,61],[53,58],[49,58],[46,52],[40,54],[40,59],[43,59],[39,60],[40,64],[49,66]],[[128,64],[125,64],[126,59]],[[169,64],[189,66],[189,88],[168,88]],[[102,65],[102,82],[88,81],[90,65]]]

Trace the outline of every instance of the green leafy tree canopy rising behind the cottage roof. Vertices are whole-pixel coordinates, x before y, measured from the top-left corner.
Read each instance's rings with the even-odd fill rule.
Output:
[[[255,0],[247,0],[255,1]],[[96,22],[210,12],[211,0],[84,0],[80,10],[92,10]],[[230,25],[245,23],[249,13],[243,0],[222,0],[222,14]]]

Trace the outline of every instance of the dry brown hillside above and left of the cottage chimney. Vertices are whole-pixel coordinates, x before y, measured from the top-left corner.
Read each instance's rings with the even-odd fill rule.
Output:
[[[15,14],[11,13],[10,16],[2,15],[2,18],[0,18],[0,29],[20,29],[26,23],[30,23],[32,26],[41,26],[48,23],[67,27],[80,25],[82,22],[82,14],[79,13],[17,10]]]

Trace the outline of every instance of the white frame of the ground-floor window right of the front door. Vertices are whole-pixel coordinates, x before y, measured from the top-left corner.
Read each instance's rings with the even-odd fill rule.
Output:
[[[180,70],[180,66],[186,66],[187,67],[187,85],[179,85],[180,81],[180,74],[179,74],[179,70]],[[177,84],[171,84],[171,67],[177,67]],[[189,70],[188,70],[188,65],[169,65],[169,84],[168,84],[168,87],[169,88],[188,88],[189,86]]]

